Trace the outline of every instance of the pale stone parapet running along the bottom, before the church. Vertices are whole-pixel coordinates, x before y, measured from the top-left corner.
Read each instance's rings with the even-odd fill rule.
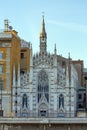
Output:
[[[87,124],[87,118],[0,118],[0,124]]]

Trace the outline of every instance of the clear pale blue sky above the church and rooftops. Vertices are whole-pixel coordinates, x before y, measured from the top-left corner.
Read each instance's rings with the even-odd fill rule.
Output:
[[[31,41],[33,52],[39,51],[42,12],[45,15],[47,49],[71,58],[84,60],[87,67],[87,0],[0,0],[0,29],[4,19]]]

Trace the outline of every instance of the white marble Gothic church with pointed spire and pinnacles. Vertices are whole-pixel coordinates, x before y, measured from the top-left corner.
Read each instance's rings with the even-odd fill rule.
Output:
[[[15,81],[13,70],[13,113],[17,117],[74,117],[78,76],[74,65],[58,62],[56,46],[47,52],[44,17],[40,33],[40,52],[33,55],[31,47],[30,72],[20,74]]]

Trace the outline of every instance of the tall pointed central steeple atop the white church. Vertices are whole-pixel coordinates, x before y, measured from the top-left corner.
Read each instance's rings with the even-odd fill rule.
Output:
[[[44,15],[42,16],[42,28],[40,32],[40,53],[44,54],[46,52],[47,48],[47,34],[45,31],[45,21],[44,21]]]

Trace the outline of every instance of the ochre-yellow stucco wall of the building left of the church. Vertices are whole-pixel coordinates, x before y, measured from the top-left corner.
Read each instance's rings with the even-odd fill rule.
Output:
[[[0,74],[0,77],[4,80],[4,90],[7,88],[6,80],[7,80],[7,64],[9,64],[10,73],[9,73],[9,90],[12,88],[12,81],[13,81],[13,66],[15,65],[16,69],[16,77],[17,77],[17,70],[18,70],[18,64],[20,64],[20,38],[17,36],[16,31],[6,31],[4,34],[12,34],[11,39],[0,39],[0,43],[3,45],[5,43],[8,43],[9,46],[2,46],[0,47],[0,52],[3,52],[3,59],[0,59],[0,64],[4,65],[4,71],[2,74]],[[9,51],[9,52],[8,52]],[[8,55],[8,53],[10,55]],[[8,59],[9,62],[8,62]],[[8,62],[8,63],[7,63]]]

